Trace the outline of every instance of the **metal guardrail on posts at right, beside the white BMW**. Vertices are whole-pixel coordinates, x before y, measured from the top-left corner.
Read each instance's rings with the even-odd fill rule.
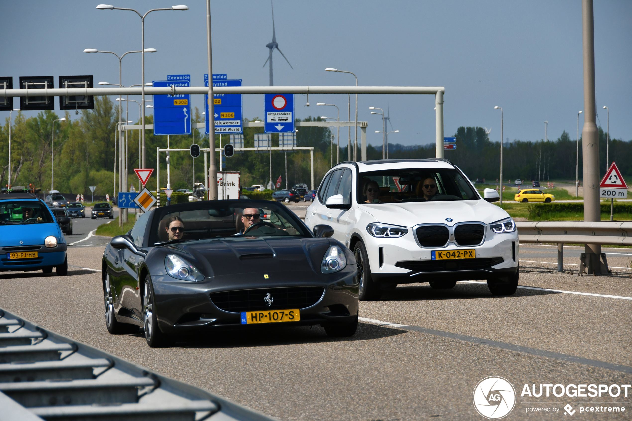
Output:
[[[564,244],[607,244],[632,246],[632,222],[538,221],[516,222],[520,242],[557,244],[557,271],[562,272]],[[599,262],[586,261],[581,254],[579,273],[609,273],[605,253]],[[599,268],[597,268],[599,265]]]

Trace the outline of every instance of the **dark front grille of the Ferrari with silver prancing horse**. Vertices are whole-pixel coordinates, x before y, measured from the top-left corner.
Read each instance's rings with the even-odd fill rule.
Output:
[[[213,292],[210,300],[223,311],[261,311],[270,309],[305,309],[319,302],[323,287],[258,288]]]

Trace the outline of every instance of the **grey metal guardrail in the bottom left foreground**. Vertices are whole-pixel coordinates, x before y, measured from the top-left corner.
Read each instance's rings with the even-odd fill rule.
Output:
[[[0,420],[267,417],[0,309]]]

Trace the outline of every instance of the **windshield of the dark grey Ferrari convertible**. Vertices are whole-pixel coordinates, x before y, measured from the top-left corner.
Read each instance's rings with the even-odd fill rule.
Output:
[[[246,209],[247,215],[258,214],[259,219],[251,217],[250,227],[243,235],[245,238],[312,237],[305,224],[284,205],[277,205],[272,201],[218,200],[157,208],[150,228],[149,244],[169,240],[166,228],[167,221],[172,216],[178,216],[183,221],[184,240],[242,235],[245,227],[243,219],[246,219],[242,219],[242,215]]]

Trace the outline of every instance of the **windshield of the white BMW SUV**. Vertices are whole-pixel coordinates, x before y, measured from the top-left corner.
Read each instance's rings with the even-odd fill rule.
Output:
[[[456,169],[401,169],[360,173],[358,203],[472,200],[480,197]]]

